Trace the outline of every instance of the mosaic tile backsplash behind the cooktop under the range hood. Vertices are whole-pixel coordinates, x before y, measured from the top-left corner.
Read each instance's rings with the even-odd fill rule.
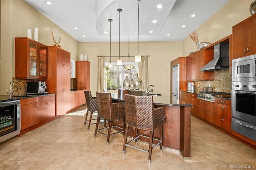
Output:
[[[212,91],[231,93],[231,75],[228,69],[214,71],[214,80],[212,81],[194,81],[196,93],[200,91],[200,87],[212,87]]]

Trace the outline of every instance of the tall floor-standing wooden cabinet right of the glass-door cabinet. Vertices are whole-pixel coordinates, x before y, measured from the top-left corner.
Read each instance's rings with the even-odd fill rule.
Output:
[[[56,115],[70,111],[70,52],[48,46],[48,93],[56,93]]]

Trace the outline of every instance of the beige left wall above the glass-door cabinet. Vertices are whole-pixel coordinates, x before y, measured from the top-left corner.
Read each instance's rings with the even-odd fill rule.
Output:
[[[45,45],[54,44],[52,30],[55,27],[58,28],[61,37],[60,46],[70,51],[72,59],[78,57],[78,41],[32,6],[23,0],[1,0],[1,95],[7,95],[6,89],[9,91],[10,81],[15,76],[14,39],[15,37],[27,37],[28,28],[32,29],[33,39],[35,27],[39,29],[38,42]]]

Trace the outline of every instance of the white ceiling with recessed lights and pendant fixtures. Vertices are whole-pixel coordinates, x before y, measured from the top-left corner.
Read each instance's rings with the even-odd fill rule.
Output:
[[[25,0],[78,42],[182,41],[229,0]],[[138,26],[138,2],[139,26]],[[162,9],[156,5],[162,4]],[[121,8],[122,12],[117,9]],[[196,14],[191,17],[191,14]],[[157,20],[157,23],[152,23]],[[182,25],[186,27],[182,28]],[[74,27],[78,29],[75,30]],[[138,29],[139,28],[139,29]],[[52,28],[53,29],[53,28]],[[149,31],[154,31],[149,33]],[[108,33],[104,33],[108,31]],[[167,36],[170,34],[170,36]],[[85,36],[85,37],[83,37]],[[60,34],[61,37],[61,34]]]

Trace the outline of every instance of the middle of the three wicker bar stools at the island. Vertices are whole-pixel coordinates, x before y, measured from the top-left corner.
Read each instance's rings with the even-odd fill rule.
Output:
[[[96,92],[97,98],[97,107],[98,107],[98,119],[96,123],[94,138],[96,137],[97,132],[100,132],[107,136],[107,144],[109,143],[110,135],[124,132],[125,127],[125,106],[124,102],[120,103],[112,103],[111,93],[99,93]],[[100,117],[106,119],[108,121],[108,127],[98,129],[98,125],[100,123]],[[124,125],[122,127],[118,127],[116,125],[112,125],[113,121],[118,118],[124,118]],[[119,128],[120,131],[111,133],[112,127]],[[102,130],[108,129],[108,134],[102,132]]]

